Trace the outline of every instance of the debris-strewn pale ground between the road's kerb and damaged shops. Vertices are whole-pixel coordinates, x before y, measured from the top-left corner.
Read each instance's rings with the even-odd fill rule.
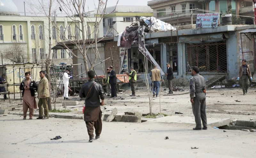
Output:
[[[123,90],[119,92],[116,98],[105,98],[105,106],[101,107],[104,113],[110,113],[113,108],[117,108],[118,113],[123,113],[129,110],[140,111],[143,114],[149,113],[149,96],[152,101],[152,112],[164,113],[167,115],[192,116],[192,107],[189,98],[189,87],[179,87],[180,91],[174,91],[172,95],[167,95],[168,88],[161,87],[159,97],[152,97],[152,93],[148,94],[146,87],[137,87],[136,96],[130,97],[131,90]],[[243,95],[242,88],[219,88],[208,89],[206,94],[206,112],[207,117],[214,118],[230,118],[230,119],[252,119],[256,118],[256,88],[250,87],[248,94]],[[9,100],[3,101],[3,95],[0,96],[0,108],[8,109],[22,113],[22,102],[20,95],[16,94],[15,99],[10,95]],[[71,110],[70,114],[82,114],[84,100],[80,100],[79,96],[71,96],[70,100],[79,101],[78,105],[66,106],[66,109]],[[38,102],[38,99],[36,99]],[[61,106],[64,100],[62,97],[56,99],[56,109],[64,109]],[[52,104],[54,108],[54,104]],[[36,109],[38,112],[38,109]],[[183,114],[175,114],[181,112]]]

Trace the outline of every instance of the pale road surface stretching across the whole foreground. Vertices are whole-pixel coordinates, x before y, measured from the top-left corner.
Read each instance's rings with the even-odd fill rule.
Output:
[[[1,158],[254,157],[256,132],[209,128],[193,131],[185,123],[103,122],[99,140],[88,142],[83,120],[23,120],[0,115]],[[55,136],[59,140],[50,140]],[[169,139],[165,140],[165,137]],[[198,147],[198,149],[191,149]]]

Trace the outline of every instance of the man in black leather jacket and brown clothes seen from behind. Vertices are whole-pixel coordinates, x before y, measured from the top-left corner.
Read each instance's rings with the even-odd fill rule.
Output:
[[[104,105],[104,91],[102,86],[95,82],[95,73],[92,70],[88,71],[87,76],[89,81],[82,85],[79,97],[85,97],[84,121],[89,134],[89,142],[92,142],[94,140],[93,126],[95,127],[95,140],[100,138],[102,129],[100,105]]]

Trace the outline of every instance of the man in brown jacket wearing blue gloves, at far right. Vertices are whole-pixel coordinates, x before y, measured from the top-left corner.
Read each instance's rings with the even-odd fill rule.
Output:
[[[243,95],[245,95],[245,93],[247,93],[249,84],[250,84],[250,80],[252,81],[252,74],[251,74],[251,70],[250,70],[250,66],[248,64],[246,64],[246,60],[243,59],[242,60],[242,65],[239,67],[239,71],[238,71],[238,77],[237,80],[240,80],[240,84],[242,86],[243,89]]]

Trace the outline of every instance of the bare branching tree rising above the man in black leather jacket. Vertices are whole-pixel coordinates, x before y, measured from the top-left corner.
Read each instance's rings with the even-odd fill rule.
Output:
[[[72,52],[72,54],[76,58],[79,58],[78,56],[79,53],[82,54],[85,73],[93,69],[97,61],[97,58],[99,56],[99,51],[97,47],[97,42],[99,41],[97,37],[98,37],[100,22],[102,21],[103,17],[106,16],[105,11],[106,11],[107,2],[108,0],[106,0],[105,2],[103,0],[98,0],[97,6],[96,4],[94,4],[95,8],[97,8],[97,11],[94,12],[93,15],[91,15],[92,12],[89,12],[89,10],[86,8],[86,0],[71,0],[71,1],[58,0],[61,10],[64,11],[67,15],[69,15],[67,16],[67,18],[71,19],[71,21],[73,21],[76,24],[76,29],[78,29],[79,32],[81,32],[81,34],[79,34],[79,38],[78,38],[77,32],[75,32],[75,36],[74,36],[75,40],[73,39],[67,39],[67,40],[76,46],[77,55],[73,54]],[[92,1],[88,1],[88,3],[92,3]],[[118,3],[118,0],[117,0],[117,3]],[[77,27],[77,23],[79,23],[81,27]],[[89,27],[88,23],[90,23],[93,26],[94,30]],[[92,34],[94,35],[94,39],[90,40],[90,37]],[[63,42],[63,45],[70,51],[69,47],[66,46],[64,42]],[[92,45],[94,46],[92,47]],[[88,59],[87,50],[89,48],[92,48],[95,55],[93,61],[90,61],[90,59]],[[88,62],[91,64],[90,68],[88,67]]]

